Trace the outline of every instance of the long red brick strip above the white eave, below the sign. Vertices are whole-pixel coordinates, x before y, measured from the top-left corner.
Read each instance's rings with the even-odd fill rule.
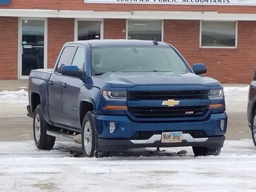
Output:
[[[11,5],[0,5],[11,9],[54,9],[54,10],[95,10],[95,11],[217,11],[220,13],[256,13],[256,6],[200,6],[168,4],[95,4],[84,0],[12,0]]]

